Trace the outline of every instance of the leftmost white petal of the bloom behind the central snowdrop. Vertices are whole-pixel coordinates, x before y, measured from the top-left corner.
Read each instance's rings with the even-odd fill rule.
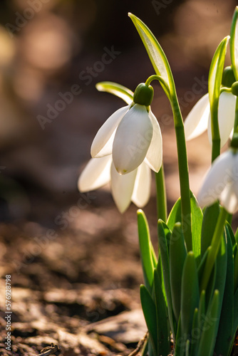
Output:
[[[112,156],[91,158],[78,179],[81,192],[95,190],[110,182]]]

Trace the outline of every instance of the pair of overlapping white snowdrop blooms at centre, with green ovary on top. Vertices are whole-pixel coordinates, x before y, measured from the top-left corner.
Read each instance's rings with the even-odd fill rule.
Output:
[[[150,109],[151,88],[138,85],[133,102],[114,112],[100,127],[91,146],[93,158],[78,179],[81,192],[110,182],[122,213],[130,201],[139,207],[147,204],[150,169],[158,172],[162,164],[162,135]]]

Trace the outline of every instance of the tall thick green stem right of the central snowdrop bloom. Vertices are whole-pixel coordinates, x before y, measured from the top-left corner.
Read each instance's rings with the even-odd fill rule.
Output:
[[[182,212],[182,231],[185,235],[187,251],[192,251],[192,229],[191,229],[191,203],[190,203],[190,181],[187,164],[187,147],[185,141],[185,128],[182,121],[180,105],[177,95],[174,93],[171,100],[172,113],[175,122],[175,134],[177,140],[177,159],[180,175],[180,195]]]

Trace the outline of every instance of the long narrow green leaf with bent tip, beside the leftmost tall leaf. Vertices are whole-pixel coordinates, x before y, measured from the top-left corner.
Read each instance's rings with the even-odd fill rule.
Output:
[[[172,313],[172,299],[171,299],[171,289],[170,289],[170,261],[167,240],[169,241],[171,231],[168,229],[167,225],[162,221],[158,221],[157,225],[158,231],[158,241],[160,246],[160,258],[162,262],[162,273],[165,283],[165,293],[167,298],[167,309],[170,320],[170,328],[172,330],[172,335],[176,335],[176,324],[174,316]]]

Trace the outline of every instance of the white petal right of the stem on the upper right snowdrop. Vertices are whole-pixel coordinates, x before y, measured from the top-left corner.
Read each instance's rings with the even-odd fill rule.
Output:
[[[223,92],[219,97],[218,123],[219,135],[221,137],[221,147],[223,147],[234,127],[236,97],[232,93]],[[212,145],[211,115],[209,115],[207,133],[209,142]]]

